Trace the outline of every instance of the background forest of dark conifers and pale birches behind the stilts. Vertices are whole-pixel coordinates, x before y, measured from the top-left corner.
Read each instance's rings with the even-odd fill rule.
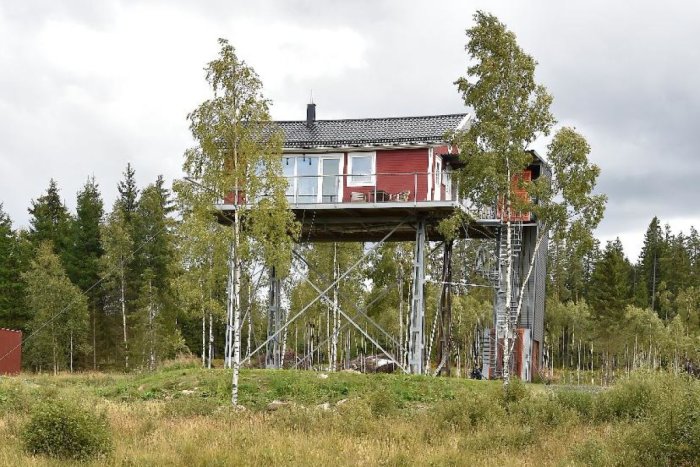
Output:
[[[138,187],[128,165],[118,191],[111,210],[105,209],[99,185],[89,178],[70,212],[51,180],[28,208],[26,230],[15,229],[0,208],[0,327],[24,332],[23,363],[35,371],[154,369],[180,354],[221,366],[228,227],[216,225],[209,233],[204,247],[211,254],[199,257],[210,261],[203,264],[195,261],[203,245],[192,241],[193,224],[183,222],[177,197],[163,178]],[[302,243],[308,264],[295,260],[296,272],[283,280],[284,307],[299,310],[316,296],[304,277],[329,284],[334,270],[347,269],[366,248]],[[486,240],[455,242],[452,339],[458,376],[479,365],[480,336],[492,325],[493,292],[479,261],[492,248]],[[387,333],[372,327],[367,332],[396,355],[406,345],[411,257],[410,243],[381,245],[337,291],[342,309],[366,308]],[[429,256],[428,277],[440,277],[441,259],[440,253]],[[605,378],[637,368],[693,371],[700,361],[697,230],[673,232],[654,217],[632,261],[619,240],[586,246],[553,239],[548,262],[549,368],[603,370]],[[243,271],[244,356],[266,337],[268,280],[255,261]],[[429,281],[426,290],[426,345],[433,358],[437,282]],[[317,302],[290,326],[285,366],[325,369],[334,319],[331,307]],[[338,342],[333,360],[339,367],[379,354],[349,328],[342,328]],[[250,362],[261,364],[259,358]]]

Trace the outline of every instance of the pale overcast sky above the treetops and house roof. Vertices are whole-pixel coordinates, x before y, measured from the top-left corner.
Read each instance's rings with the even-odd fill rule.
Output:
[[[71,209],[91,175],[111,207],[127,162],[141,186],[179,177],[219,37],[275,119],[303,119],[311,91],[321,119],[464,112],[453,82],[477,9],[588,138],[609,197],[599,238],[634,260],[654,215],[700,226],[700,2],[673,0],[0,0],[0,202],[26,227],[51,177]]]

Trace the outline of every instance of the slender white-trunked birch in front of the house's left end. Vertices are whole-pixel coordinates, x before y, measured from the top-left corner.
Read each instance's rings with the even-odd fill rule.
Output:
[[[282,135],[271,124],[262,82],[225,39],[219,56],[205,67],[213,97],[188,115],[197,145],[185,152],[183,170],[193,189],[180,190],[190,205],[210,209],[232,205],[224,233],[229,244],[227,329],[233,335],[231,402],[238,404],[240,369],[241,271],[258,260],[287,271],[298,232],[285,196]],[[290,235],[291,234],[291,235]]]

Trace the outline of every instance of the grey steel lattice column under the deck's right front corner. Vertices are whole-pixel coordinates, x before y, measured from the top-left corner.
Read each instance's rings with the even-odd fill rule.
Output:
[[[413,298],[411,301],[411,327],[408,342],[408,370],[412,374],[423,373],[425,339],[425,219],[416,225],[416,245],[413,255]]]

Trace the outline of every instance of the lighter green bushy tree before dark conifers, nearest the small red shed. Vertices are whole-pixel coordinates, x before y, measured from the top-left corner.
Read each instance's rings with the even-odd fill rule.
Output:
[[[29,362],[40,371],[72,371],[76,358],[89,351],[85,296],[71,283],[48,241],[38,245],[23,278],[27,283],[27,306],[33,313]]]

